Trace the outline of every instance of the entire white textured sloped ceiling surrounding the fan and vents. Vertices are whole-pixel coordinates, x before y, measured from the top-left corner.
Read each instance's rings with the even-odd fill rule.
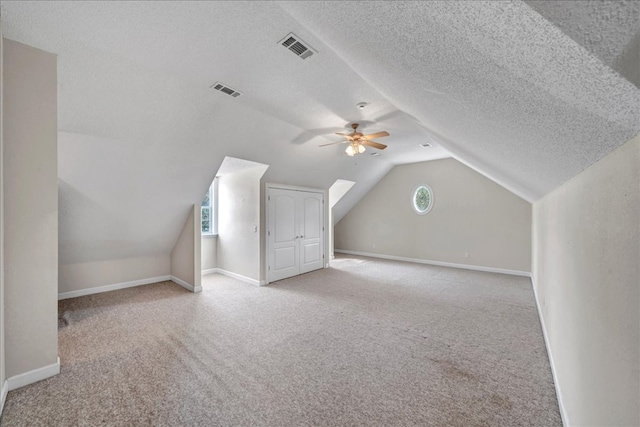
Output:
[[[393,165],[448,153],[536,200],[640,130],[639,90],[615,59],[629,62],[620,52],[637,38],[640,6],[605,3],[624,17],[606,48],[585,42],[600,27],[572,21],[584,14],[519,1],[49,1],[1,12],[5,37],[58,54],[59,255],[72,263],[169,253],[225,156],[269,165],[267,182],[356,182],[337,220]],[[318,53],[301,60],[278,45],[291,31]],[[216,81],[243,95],[211,90]],[[355,158],[342,144],[318,148],[353,121],[389,131],[389,148]]]

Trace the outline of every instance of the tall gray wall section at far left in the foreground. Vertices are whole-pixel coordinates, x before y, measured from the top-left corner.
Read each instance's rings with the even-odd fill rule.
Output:
[[[4,41],[6,375],[57,362],[56,57]]]

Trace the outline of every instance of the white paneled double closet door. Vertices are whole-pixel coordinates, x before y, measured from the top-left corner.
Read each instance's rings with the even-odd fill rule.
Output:
[[[324,267],[324,192],[267,187],[267,278]]]

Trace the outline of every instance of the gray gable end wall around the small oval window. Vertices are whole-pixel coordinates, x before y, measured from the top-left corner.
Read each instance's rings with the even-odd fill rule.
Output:
[[[426,215],[411,207],[419,184],[434,193]],[[334,239],[336,250],[530,272],[531,204],[454,159],[396,166]]]

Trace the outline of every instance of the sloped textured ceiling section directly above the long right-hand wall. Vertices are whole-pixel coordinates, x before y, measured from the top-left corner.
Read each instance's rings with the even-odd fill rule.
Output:
[[[529,200],[640,130],[638,89],[525,3],[284,7],[454,156]]]

